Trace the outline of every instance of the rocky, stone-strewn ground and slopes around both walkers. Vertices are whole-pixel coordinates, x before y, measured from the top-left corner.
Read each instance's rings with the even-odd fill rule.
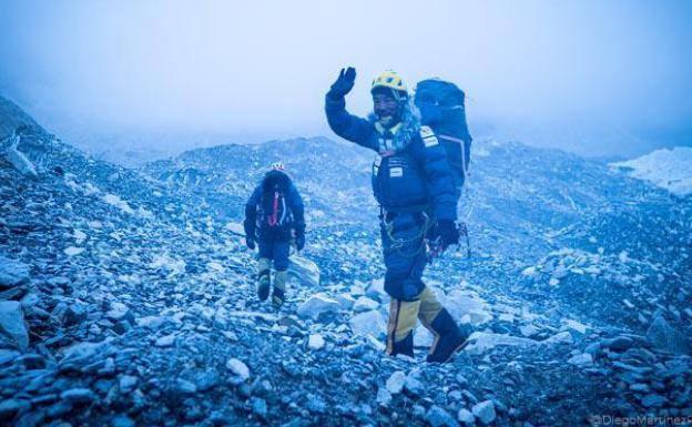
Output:
[[[476,333],[451,363],[428,365],[421,327],[415,359],[384,354],[376,214],[340,215],[367,195],[358,154],[345,167],[359,172],[335,185],[363,191],[334,206],[334,189],[307,191],[323,214],[277,313],[256,301],[241,206],[221,207],[246,196],[238,177],[205,180],[194,152],[140,171],[93,161],[0,100],[0,136],[26,123],[16,150],[35,172],[0,156],[2,425],[692,419],[690,199],[562,153],[480,144],[472,256],[449,252],[426,273]],[[326,143],[311,144],[317,155]],[[243,176],[265,161],[247,159],[218,170]]]

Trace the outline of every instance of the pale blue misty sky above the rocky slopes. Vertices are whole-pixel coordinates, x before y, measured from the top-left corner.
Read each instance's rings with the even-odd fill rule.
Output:
[[[475,133],[632,154],[692,145],[690,22],[692,1],[0,0],[0,93],[95,134],[332,135],[353,64],[356,113],[394,69],[457,82]]]

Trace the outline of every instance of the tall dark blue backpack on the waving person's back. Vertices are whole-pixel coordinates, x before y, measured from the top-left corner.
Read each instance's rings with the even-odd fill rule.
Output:
[[[416,85],[415,104],[421,123],[432,128],[447,151],[457,189],[468,177],[471,135],[466,121],[465,93],[456,84],[439,79],[421,80]],[[426,108],[427,106],[427,108]]]

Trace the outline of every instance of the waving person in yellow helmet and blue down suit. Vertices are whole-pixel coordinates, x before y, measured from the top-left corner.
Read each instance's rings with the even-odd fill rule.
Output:
[[[459,193],[445,149],[416,119],[401,78],[385,71],[373,81],[374,113],[368,120],[346,111],[345,95],[355,78],[353,68],[340,71],[327,92],[325,111],[336,134],[379,154],[373,192],[380,206],[385,291],[391,297],[387,353],[413,357],[418,318],[435,335],[427,360],[445,363],[466,345],[470,331],[457,325],[421,276],[426,241],[439,242],[442,251],[459,243]]]

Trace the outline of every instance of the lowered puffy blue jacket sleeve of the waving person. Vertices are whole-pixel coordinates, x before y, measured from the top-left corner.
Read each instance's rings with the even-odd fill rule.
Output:
[[[456,221],[459,194],[455,189],[447,151],[430,128],[421,126],[421,136],[414,141],[414,153],[428,183],[435,220]]]

